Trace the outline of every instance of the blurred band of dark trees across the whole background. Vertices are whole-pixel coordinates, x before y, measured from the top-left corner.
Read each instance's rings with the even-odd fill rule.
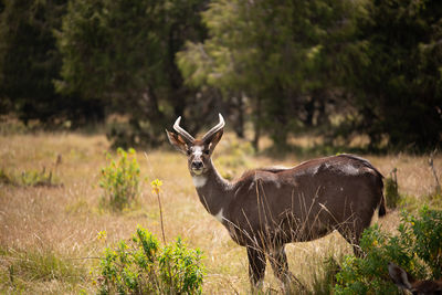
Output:
[[[194,134],[222,113],[256,150],[308,134],[428,151],[441,17],[430,0],[2,0],[1,120],[157,147],[178,116]]]

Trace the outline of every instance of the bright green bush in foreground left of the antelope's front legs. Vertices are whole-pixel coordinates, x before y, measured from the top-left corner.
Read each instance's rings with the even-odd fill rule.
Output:
[[[133,239],[106,249],[101,257],[99,294],[201,294],[201,252],[181,239],[160,246],[157,238],[138,226]]]

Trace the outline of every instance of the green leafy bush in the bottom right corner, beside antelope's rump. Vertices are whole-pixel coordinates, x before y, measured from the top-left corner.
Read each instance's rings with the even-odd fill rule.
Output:
[[[388,274],[388,263],[401,265],[414,277],[441,277],[442,211],[424,207],[419,217],[403,213],[398,235],[378,225],[360,240],[364,259],[347,256],[336,275],[335,294],[399,294]]]

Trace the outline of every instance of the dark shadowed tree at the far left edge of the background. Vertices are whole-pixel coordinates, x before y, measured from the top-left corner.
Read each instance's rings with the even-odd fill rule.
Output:
[[[61,55],[53,31],[60,29],[65,0],[6,0],[0,14],[0,96],[24,123],[103,118],[99,105],[55,93]]]

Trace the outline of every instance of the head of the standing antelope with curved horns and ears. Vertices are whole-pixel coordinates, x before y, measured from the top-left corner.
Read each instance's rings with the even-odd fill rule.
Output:
[[[194,139],[180,126],[181,117],[173,124],[177,133],[166,130],[170,144],[183,152],[188,159],[188,168],[192,176],[201,176],[211,169],[211,156],[224,130],[224,118],[219,114],[219,123],[201,139]]]

